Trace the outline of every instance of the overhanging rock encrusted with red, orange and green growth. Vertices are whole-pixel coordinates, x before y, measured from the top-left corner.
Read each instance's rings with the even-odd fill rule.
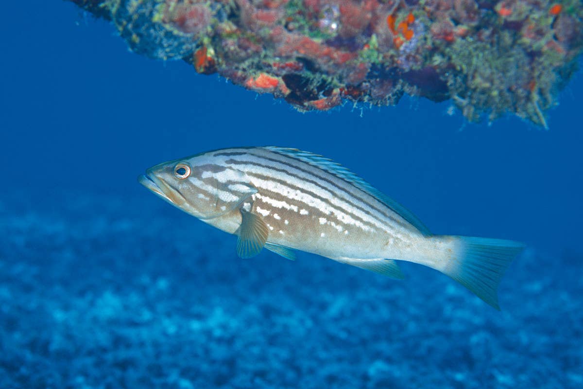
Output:
[[[543,112],[577,69],[580,0],[71,0],[131,50],[299,110],[404,93],[451,99],[470,121]]]

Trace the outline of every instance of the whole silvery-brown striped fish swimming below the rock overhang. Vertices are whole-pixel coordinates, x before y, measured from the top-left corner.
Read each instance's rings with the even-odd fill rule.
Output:
[[[342,165],[293,148],[227,148],[157,164],[139,183],[237,236],[237,255],[297,251],[405,278],[396,261],[448,275],[500,310],[498,284],[524,244],[433,234],[412,212]]]

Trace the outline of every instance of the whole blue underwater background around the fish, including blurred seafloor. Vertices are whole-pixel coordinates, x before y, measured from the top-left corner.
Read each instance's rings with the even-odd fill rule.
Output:
[[[550,131],[412,98],[301,114],[71,3],[2,8],[0,388],[583,387],[581,72]],[[136,182],[238,145],[332,157],[433,232],[523,241],[502,311],[419,265],[241,260]]]

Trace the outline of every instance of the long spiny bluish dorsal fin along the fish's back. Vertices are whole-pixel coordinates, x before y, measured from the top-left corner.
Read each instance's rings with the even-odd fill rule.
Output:
[[[307,151],[302,151],[298,149],[281,148],[277,146],[265,146],[265,149],[271,150],[273,152],[301,160],[302,162],[311,164],[314,167],[325,170],[334,176],[341,178],[359,188],[361,191],[366,192],[371,195],[382,204],[388,206],[392,211],[398,213],[403,219],[409,222],[413,227],[415,227],[419,232],[424,235],[431,235],[429,229],[422,223],[417,216],[413,215],[409,209],[405,208],[394,199],[388,197],[377,188],[374,188],[371,184],[364,181],[362,178],[352,173],[352,171],[346,169],[337,162],[333,162],[331,159],[323,157],[318,154],[310,153]]]

